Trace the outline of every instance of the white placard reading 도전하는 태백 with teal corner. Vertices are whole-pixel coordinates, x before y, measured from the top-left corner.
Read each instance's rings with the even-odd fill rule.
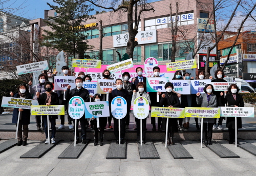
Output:
[[[164,88],[166,82],[169,82],[169,78],[148,77],[146,78],[146,91],[147,92],[166,92]]]

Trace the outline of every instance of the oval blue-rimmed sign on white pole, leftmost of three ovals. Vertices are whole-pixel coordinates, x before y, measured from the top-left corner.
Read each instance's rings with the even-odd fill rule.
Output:
[[[76,123],[77,119],[80,119],[84,114],[84,101],[81,97],[75,96],[69,100],[69,115],[75,119],[75,137],[74,145],[76,146]]]

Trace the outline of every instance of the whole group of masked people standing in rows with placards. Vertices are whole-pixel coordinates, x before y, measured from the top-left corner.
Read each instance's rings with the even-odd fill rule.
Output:
[[[62,72],[64,76],[69,76],[69,68],[67,66],[62,67]],[[130,107],[131,102],[133,102],[137,97],[144,97],[148,100],[151,106],[157,107],[218,107],[224,106],[226,103],[228,106],[239,106],[243,107],[244,102],[242,95],[239,95],[239,87],[236,84],[231,84],[227,91],[225,92],[217,92],[214,90],[214,86],[212,84],[207,84],[204,87],[204,94],[191,94],[191,95],[181,95],[174,92],[174,85],[171,82],[167,82],[165,84],[166,92],[157,92],[157,93],[147,93],[146,92],[146,77],[142,76],[143,69],[138,67],[136,68],[137,77],[133,78],[130,82],[130,73],[124,72],[122,74],[122,79],[116,79],[116,89],[109,89],[109,96],[106,94],[95,94],[94,96],[90,96],[87,89],[84,89],[82,84],[83,82],[92,81],[90,75],[85,75],[84,72],[79,72],[77,78],[75,79],[76,87],[71,87],[71,85],[67,86],[67,90],[65,91],[54,91],[54,82],[51,83],[46,81],[46,75],[41,74],[38,77],[39,83],[32,87],[32,82],[30,81],[27,84],[20,84],[17,88],[18,93],[13,94],[10,93],[12,97],[15,98],[26,98],[32,99],[31,94],[34,95],[33,99],[37,100],[40,105],[58,105],[62,104],[66,106],[68,111],[68,102],[74,96],[80,96],[84,102],[91,101],[111,101],[117,97],[123,97],[127,102],[127,114],[126,116],[120,120],[120,143],[124,143],[125,137],[125,129],[129,129],[130,124]],[[57,72],[54,73],[54,76]],[[153,68],[153,76],[149,77],[160,77],[160,68]],[[104,70],[102,72],[103,79],[113,79],[110,77],[110,71]],[[210,76],[212,82],[226,82],[223,78],[225,77],[224,72],[222,70],[217,70],[215,72],[215,78],[213,79]],[[174,80],[177,79],[194,79],[194,77],[190,77],[189,73],[185,73],[182,75],[180,71],[176,71],[173,77]],[[195,79],[205,79],[205,73],[203,71],[198,72]],[[53,79],[54,80],[54,79]],[[157,96],[159,96],[159,102],[157,101]],[[110,106],[111,108],[111,106]],[[22,109],[22,108],[14,108],[13,112],[13,120],[12,123],[17,125],[17,116],[18,112],[20,112],[20,121],[18,126],[18,143],[19,145],[26,145],[28,138],[28,125],[30,123],[30,110]],[[110,109],[111,112],[111,109]],[[69,129],[73,129],[72,119],[68,114],[68,124]],[[42,117],[42,120],[41,120]],[[55,134],[56,134],[56,119],[58,117],[55,115],[49,116],[51,123],[51,144],[55,144]],[[114,127],[111,125],[112,118],[114,119]],[[61,124],[58,129],[62,129],[65,127],[65,116],[60,116]],[[213,129],[223,129],[222,122],[224,117],[219,118],[218,126],[216,118],[203,118],[203,138],[205,145],[211,145],[212,138],[212,130]],[[176,119],[170,118],[168,127],[167,127],[167,144],[173,145],[173,137],[174,133],[178,130],[182,131],[184,128],[189,128],[189,120],[190,118],[186,117],[184,119]],[[135,118],[136,128],[137,130],[137,140],[138,142],[146,143],[146,118],[140,121],[140,119]],[[198,124],[198,118],[195,118],[196,127],[200,129]],[[42,122],[42,130],[45,130],[46,134],[46,144],[48,144],[49,134],[48,134],[48,126],[47,126],[47,116],[36,116],[36,125],[37,130],[41,130],[41,122]],[[82,144],[86,143],[86,128],[88,127],[88,120],[84,117],[79,119],[81,125],[81,142]],[[118,119],[113,117],[110,113],[110,117],[101,117],[99,118],[99,128],[97,127],[97,122],[94,117],[91,118],[91,128],[94,129],[94,145],[104,145],[104,129],[108,127],[110,129],[114,128],[114,134],[116,138],[116,143],[119,143],[119,134],[118,134]],[[142,129],[140,129],[140,123],[142,123]],[[73,122],[73,124],[75,124]],[[153,125],[152,130],[162,131],[166,128],[166,118],[157,118],[157,128],[156,128],[156,118],[151,117],[151,124]],[[227,117],[226,119],[226,127],[228,127],[229,131],[229,144],[232,144],[235,137],[235,123],[234,118]],[[237,118],[237,128],[242,127],[241,118]],[[22,128],[24,129],[24,134],[22,135]],[[78,131],[78,123],[75,126]],[[142,130],[142,139],[140,139],[140,130]],[[100,140],[98,140],[98,132],[100,132]],[[76,143],[80,142],[79,133],[76,134]]]

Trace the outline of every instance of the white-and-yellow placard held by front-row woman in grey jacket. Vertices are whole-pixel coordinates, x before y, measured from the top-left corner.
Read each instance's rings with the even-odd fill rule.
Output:
[[[220,108],[218,107],[186,107],[186,117],[199,118],[220,118]]]

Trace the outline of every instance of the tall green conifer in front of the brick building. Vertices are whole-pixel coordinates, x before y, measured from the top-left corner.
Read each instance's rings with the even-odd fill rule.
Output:
[[[76,58],[83,58],[84,51],[92,48],[87,45],[87,35],[80,33],[83,28],[82,21],[93,18],[88,15],[93,9],[81,0],[53,0],[58,6],[50,5],[58,14],[57,17],[50,17],[45,23],[50,26],[52,31],[44,30],[45,41],[42,46],[52,47],[58,51],[64,50],[66,53]]]

